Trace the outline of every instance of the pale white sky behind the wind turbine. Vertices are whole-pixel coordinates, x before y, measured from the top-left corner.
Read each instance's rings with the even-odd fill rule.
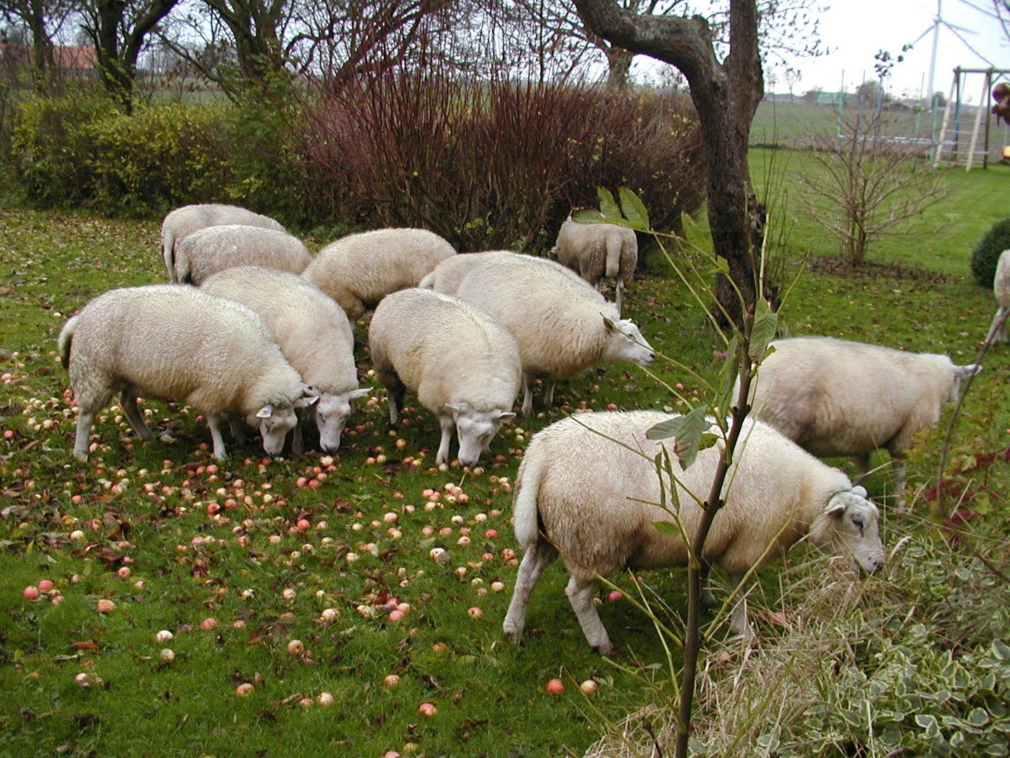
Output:
[[[915,42],[913,50],[904,54],[905,59],[891,69],[885,84],[895,96],[906,93],[918,97],[929,83],[929,62],[932,55],[933,19],[937,13],[936,0],[828,0],[831,7],[820,16],[822,44],[831,51],[817,59],[793,60],[792,65],[802,73],[793,93],[802,94],[811,89],[827,92],[838,91],[844,85],[852,92],[862,82],[876,79],[874,56],[880,50],[891,53],[892,58],[901,54],[902,45]],[[975,6],[975,7],[972,7]],[[940,16],[958,30],[957,34],[940,26],[936,48],[936,68],[933,90],[950,92],[953,69],[1010,70],[1010,42],[1004,36],[999,21],[987,15],[992,13],[992,0],[942,0]],[[972,33],[975,32],[975,33]],[[967,43],[966,43],[967,42]],[[973,49],[975,52],[973,52]],[[978,54],[978,55],[977,55]],[[768,92],[788,92],[782,69],[775,61],[766,59],[766,77],[778,74],[779,81],[772,86],[766,82]],[[982,96],[981,74],[966,78],[963,99],[978,103]]]

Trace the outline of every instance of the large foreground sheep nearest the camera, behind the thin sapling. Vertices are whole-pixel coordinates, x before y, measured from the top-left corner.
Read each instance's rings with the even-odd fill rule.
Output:
[[[664,491],[669,501],[680,503],[680,519],[693,539],[702,508],[688,493],[707,497],[719,450],[699,451],[682,470],[673,440],[645,437],[648,429],[670,417],[651,410],[584,413],[533,436],[515,481],[515,536],[526,553],[503,624],[505,634],[522,632],[529,595],[559,552],[571,574],[566,591],[582,631],[603,654],[614,646],[593,604],[596,575],[687,564],[684,538],[652,526],[674,520],[659,505],[663,495],[653,461],[666,448],[677,499],[666,473]],[[703,555],[705,575],[712,564],[721,566],[736,588],[731,626],[741,634],[747,629],[739,586],[744,575],[804,535],[815,545],[847,554],[857,570],[874,573],[884,565],[879,513],[866,490],[771,427],[745,423],[723,490],[725,504],[712,522]],[[704,599],[714,599],[707,587]]]

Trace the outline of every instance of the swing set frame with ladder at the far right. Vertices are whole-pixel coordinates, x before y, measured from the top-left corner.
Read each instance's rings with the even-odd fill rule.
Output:
[[[963,96],[968,78],[977,74],[983,75],[982,93],[978,107],[972,112],[964,107]],[[1003,87],[1007,87],[1008,76],[1010,76],[1010,70],[1007,69],[963,69],[958,66],[953,70],[953,82],[950,85],[950,96],[943,108],[939,138],[936,138],[935,127],[933,130],[935,147],[932,161],[934,169],[943,162],[951,165],[964,163],[966,171],[971,171],[978,161],[982,162],[983,168],[989,166],[989,152],[994,136],[991,128],[991,104],[993,102],[991,93],[994,87],[1001,82],[1004,83]],[[933,113],[936,113],[935,107]],[[985,128],[983,128],[983,121],[985,121]],[[999,115],[996,118],[996,129],[1003,137],[1002,160],[1010,161],[1010,144],[1008,144],[1008,139],[1010,139],[1010,130],[1008,129],[1010,127]],[[971,138],[968,138],[969,134]]]

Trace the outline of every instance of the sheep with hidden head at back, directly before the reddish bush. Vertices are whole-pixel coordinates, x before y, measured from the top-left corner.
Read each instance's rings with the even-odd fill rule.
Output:
[[[427,229],[376,229],[330,243],[302,276],[336,300],[355,321],[389,293],[416,287],[425,274],[454,255],[451,245]]]

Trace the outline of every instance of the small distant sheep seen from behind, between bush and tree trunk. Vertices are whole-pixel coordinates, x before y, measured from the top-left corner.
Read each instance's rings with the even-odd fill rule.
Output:
[[[621,310],[624,285],[638,265],[638,238],[634,229],[613,223],[580,223],[569,216],[554,243],[558,262],[578,271],[594,287],[602,279],[616,280],[614,299]]]

